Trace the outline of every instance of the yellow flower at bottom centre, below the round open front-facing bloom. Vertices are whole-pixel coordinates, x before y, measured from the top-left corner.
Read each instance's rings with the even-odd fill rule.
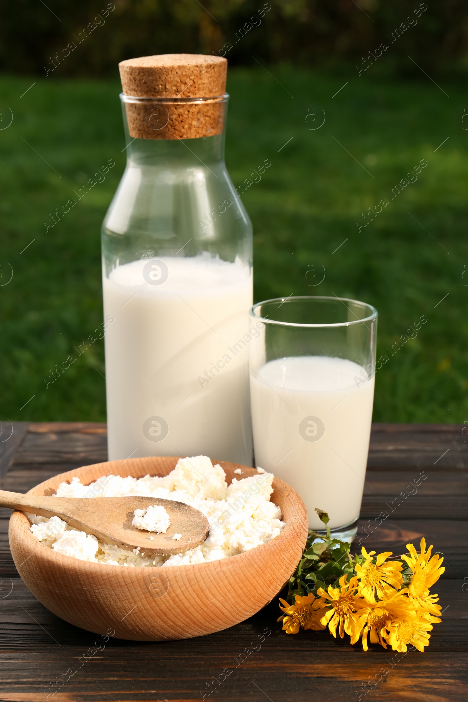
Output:
[[[386,635],[386,629],[391,625],[407,620],[410,621],[411,618],[416,616],[415,606],[403,592],[406,592],[406,590],[396,592],[394,597],[382,600],[382,602],[368,602],[359,611],[361,622],[364,624],[362,631],[362,647],[364,651],[368,649],[368,634],[370,634],[371,644],[380,644],[386,649],[387,644],[383,640],[383,637]]]

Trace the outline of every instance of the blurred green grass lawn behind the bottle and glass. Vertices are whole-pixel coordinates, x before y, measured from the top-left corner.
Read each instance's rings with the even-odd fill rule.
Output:
[[[377,357],[389,360],[377,371],[374,420],[463,422],[464,94],[443,84],[448,98],[424,78],[371,73],[230,70],[226,161],[234,185],[272,161],[243,195],[254,228],[255,300],[320,294],[375,305]],[[0,86],[0,129],[13,112],[0,131],[0,416],[105,420],[102,340],[47,390],[44,378],[102,322],[100,223],[125,165],[119,82],[1,77]],[[314,129],[321,110],[325,123]],[[105,182],[46,232],[49,213],[108,159],[116,166]],[[417,182],[359,232],[361,213],[389,199],[420,159],[428,165]],[[322,266],[325,279],[310,286]],[[417,338],[394,352],[421,315],[427,323]]]

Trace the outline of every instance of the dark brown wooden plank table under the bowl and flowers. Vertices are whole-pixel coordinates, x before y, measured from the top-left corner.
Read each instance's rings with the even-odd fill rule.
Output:
[[[98,637],[51,614],[27,590],[8,548],[10,510],[1,510],[0,700],[201,701],[203,694],[253,702],[468,699],[468,436],[462,429],[380,424],[373,426],[370,442],[355,543],[399,553],[425,536],[446,557],[446,573],[435,588],[443,621],[434,626],[424,654],[381,647],[365,654],[360,645],[326,632],[286,635],[276,623],[275,600],[209,637],[152,644],[111,639],[82,658]],[[25,492],[59,472],[106,460],[103,424],[16,423],[11,438],[0,443],[1,487]],[[379,518],[382,512],[385,519]],[[257,650],[236,664],[236,656],[253,647]],[[76,673],[53,694],[53,682],[67,677],[70,668]],[[232,673],[208,696],[213,676],[218,679],[225,668]]]

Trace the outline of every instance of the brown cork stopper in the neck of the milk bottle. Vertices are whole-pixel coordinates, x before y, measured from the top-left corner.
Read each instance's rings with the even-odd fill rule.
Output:
[[[222,133],[225,58],[159,54],[121,61],[119,70],[123,95],[129,96],[123,101],[132,138],[196,139]]]

